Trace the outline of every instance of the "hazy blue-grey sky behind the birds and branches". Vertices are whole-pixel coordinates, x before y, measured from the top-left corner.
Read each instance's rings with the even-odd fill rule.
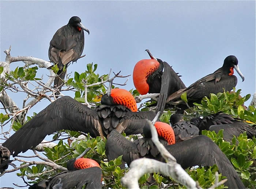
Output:
[[[91,62],[98,64],[100,75],[110,68],[132,74],[136,62],[149,59],[144,51],[148,48],[189,86],[221,67],[226,56],[235,55],[245,76],[241,82],[235,71],[237,89],[243,96],[255,92],[255,1],[1,1],[0,11],[1,61],[10,45],[12,56],[49,60],[53,34],[71,16],[79,16],[90,35],[85,32],[86,57],[68,68],[72,77]],[[12,63],[11,68],[23,65]],[[39,68],[38,77],[48,73]],[[124,88],[135,88],[132,76]],[[25,95],[8,94],[22,106]],[[44,102],[28,115],[49,103]],[[15,173],[1,177],[0,185],[22,185]]]

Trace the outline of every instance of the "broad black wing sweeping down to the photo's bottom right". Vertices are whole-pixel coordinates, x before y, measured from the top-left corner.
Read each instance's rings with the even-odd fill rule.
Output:
[[[225,185],[229,188],[245,188],[229,159],[210,138],[200,135],[165,147],[176,158],[177,163],[182,168],[217,164],[219,172],[227,177]],[[165,162],[161,155],[157,159]]]

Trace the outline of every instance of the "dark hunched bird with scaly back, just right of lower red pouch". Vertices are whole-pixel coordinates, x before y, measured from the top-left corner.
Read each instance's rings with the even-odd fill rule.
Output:
[[[185,141],[199,135],[199,129],[190,121],[184,121],[181,114],[173,114],[170,117],[176,142]]]

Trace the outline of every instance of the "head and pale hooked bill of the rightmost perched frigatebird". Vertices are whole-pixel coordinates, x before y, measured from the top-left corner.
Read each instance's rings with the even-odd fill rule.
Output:
[[[222,67],[229,73],[229,75],[234,74],[233,68],[235,68],[237,73],[242,78],[242,82],[244,81],[244,76],[242,75],[242,72],[240,71],[240,69],[238,67],[238,59],[236,58],[236,56],[234,56],[234,55],[227,56],[224,60]]]

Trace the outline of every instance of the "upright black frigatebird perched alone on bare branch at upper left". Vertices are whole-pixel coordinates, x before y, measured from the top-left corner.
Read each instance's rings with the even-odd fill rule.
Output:
[[[50,41],[48,56],[51,62],[58,64],[59,71],[54,79],[54,86],[60,86],[65,78],[66,68],[69,62],[76,62],[82,55],[84,48],[83,30],[90,34],[89,30],[83,26],[78,16],[72,16],[67,25],[56,31]],[[51,66],[52,67],[52,66]],[[49,67],[48,69],[51,69]],[[59,90],[61,87],[59,87]]]

